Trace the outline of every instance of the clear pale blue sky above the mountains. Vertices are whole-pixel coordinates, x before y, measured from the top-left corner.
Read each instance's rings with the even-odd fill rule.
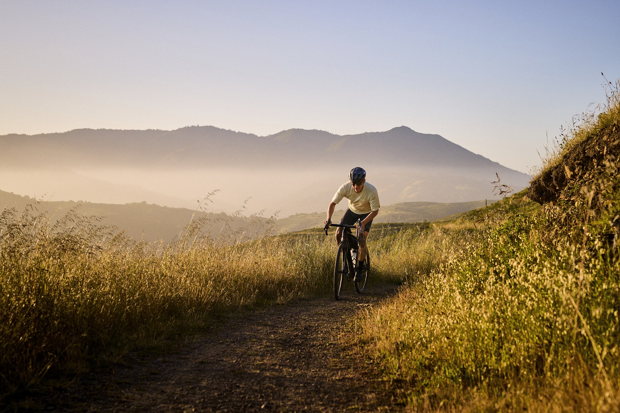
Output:
[[[528,172],[620,77],[620,2],[0,1],[0,134],[409,126]]]

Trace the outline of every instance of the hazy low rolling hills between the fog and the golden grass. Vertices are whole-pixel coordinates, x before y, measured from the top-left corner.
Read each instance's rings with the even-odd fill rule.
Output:
[[[0,206],[15,206],[18,211],[24,209],[27,204],[35,202],[28,196],[20,196],[5,191],[0,191]],[[495,202],[492,200],[489,203]],[[423,222],[446,217],[471,209],[484,206],[485,201],[471,202],[399,202],[388,205],[380,210],[380,214],[374,222]],[[267,227],[266,217],[230,217],[226,214],[213,214],[203,211],[192,211],[187,208],[170,208],[146,202],[134,202],[131,204],[97,204],[94,202],[74,201],[49,201],[37,207],[50,212],[56,218],[63,217],[71,209],[76,209],[82,215],[101,217],[101,224],[115,225],[119,230],[125,230],[125,234],[135,240],[154,241],[157,239],[171,241],[179,235],[185,225],[193,219],[208,221],[211,233],[218,235],[226,225],[241,228],[247,227],[248,231],[255,232]],[[334,220],[339,220],[344,212],[336,211]],[[274,233],[286,233],[304,230],[322,225],[325,220],[325,212],[312,214],[295,214],[273,222]],[[254,221],[254,223],[253,223]],[[257,225],[257,222],[262,224]]]

